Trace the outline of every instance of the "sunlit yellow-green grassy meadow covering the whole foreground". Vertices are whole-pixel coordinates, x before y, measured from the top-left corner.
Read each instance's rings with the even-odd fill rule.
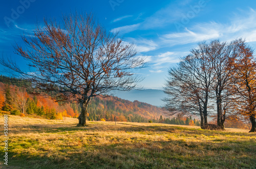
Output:
[[[3,116],[0,123],[4,154]],[[3,168],[256,168],[256,133],[248,130],[91,121],[76,127],[72,118],[18,116],[8,123]]]

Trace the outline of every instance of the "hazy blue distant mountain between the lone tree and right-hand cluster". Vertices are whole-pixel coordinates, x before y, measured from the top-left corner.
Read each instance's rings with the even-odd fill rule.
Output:
[[[122,99],[140,102],[145,102],[151,105],[161,107],[164,105],[164,102],[161,100],[166,97],[162,90],[156,89],[146,89],[146,90],[131,90],[127,91],[112,91],[112,95],[117,96]]]

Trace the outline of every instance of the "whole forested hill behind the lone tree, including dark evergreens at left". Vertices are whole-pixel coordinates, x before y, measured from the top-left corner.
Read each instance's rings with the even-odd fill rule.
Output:
[[[28,82],[24,82],[28,86],[24,88],[20,85],[19,79],[0,76],[0,81],[0,108],[11,111],[13,115],[25,113],[47,119],[62,119],[77,118],[80,114],[80,106],[76,103],[57,103],[49,97],[32,94]],[[164,116],[164,112],[151,104],[137,100],[132,102],[114,96],[97,96],[91,100],[87,114],[89,121],[114,121],[115,116],[117,121],[157,122],[160,116]]]

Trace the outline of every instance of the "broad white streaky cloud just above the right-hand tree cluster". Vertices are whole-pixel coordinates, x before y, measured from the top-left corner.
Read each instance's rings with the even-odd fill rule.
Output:
[[[247,42],[256,41],[256,12],[250,9],[243,16],[238,14],[230,19],[229,23],[217,23],[214,21],[198,23],[181,33],[170,33],[160,37],[163,44],[184,45],[197,43],[203,40],[221,39],[230,41],[236,38],[245,38]]]

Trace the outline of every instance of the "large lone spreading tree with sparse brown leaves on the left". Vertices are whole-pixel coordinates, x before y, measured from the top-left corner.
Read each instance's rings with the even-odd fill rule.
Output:
[[[23,36],[23,41],[26,47],[16,44],[15,51],[31,70],[23,71],[11,60],[3,59],[2,65],[51,96],[79,103],[80,126],[86,125],[92,97],[131,90],[142,80],[133,73],[145,64],[136,57],[135,46],[107,32],[92,14],[64,15],[62,23],[45,19],[44,27],[37,25],[34,35]]]

